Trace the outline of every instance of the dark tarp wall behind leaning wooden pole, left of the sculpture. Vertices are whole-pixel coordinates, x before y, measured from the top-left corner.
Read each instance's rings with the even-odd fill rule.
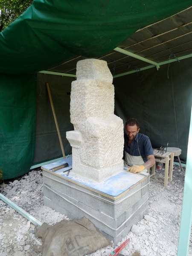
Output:
[[[72,77],[44,75],[41,73],[37,75],[37,125],[33,164],[62,157],[46,83],[49,84],[65,154],[72,153],[70,143],[66,139],[66,131],[74,130],[70,122],[70,91],[72,81],[74,81]]]

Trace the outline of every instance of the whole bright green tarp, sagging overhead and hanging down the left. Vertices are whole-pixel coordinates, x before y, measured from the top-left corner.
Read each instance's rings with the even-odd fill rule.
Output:
[[[23,175],[35,148],[36,73],[97,57],[141,27],[191,6],[180,0],[35,0],[0,33],[0,169]]]

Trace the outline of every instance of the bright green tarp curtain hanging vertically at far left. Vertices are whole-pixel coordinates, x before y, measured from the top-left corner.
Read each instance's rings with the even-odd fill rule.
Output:
[[[0,169],[3,178],[29,171],[35,149],[36,79],[0,74]]]

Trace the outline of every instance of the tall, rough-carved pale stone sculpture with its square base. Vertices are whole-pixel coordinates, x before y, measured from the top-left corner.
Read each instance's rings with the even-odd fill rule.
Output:
[[[87,59],[77,63],[72,82],[67,132],[72,146],[73,172],[98,182],[123,169],[123,122],[114,115],[113,77],[107,62]]]

